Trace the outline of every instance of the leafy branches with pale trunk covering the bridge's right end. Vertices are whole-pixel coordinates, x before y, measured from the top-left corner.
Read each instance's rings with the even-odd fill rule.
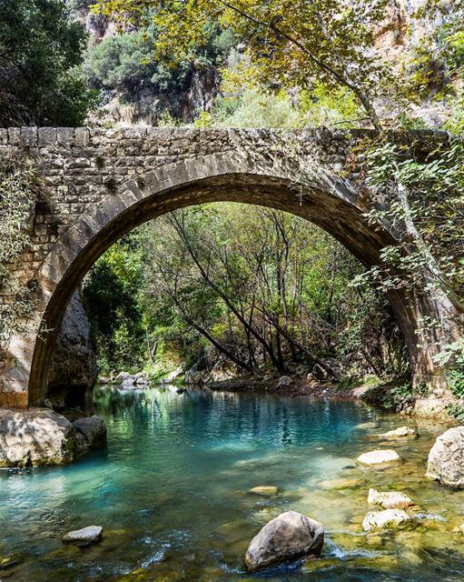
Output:
[[[400,245],[384,247],[383,266],[354,283],[362,285],[368,277],[383,291],[410,286],[444,292],[459,303],[464,298],[464,146],[454,140],[428,159],[416,160],[403,156],[400,146],[380,141],[362,156],[374,200],[385,206],[366,216],[372,225],[408,236]]]

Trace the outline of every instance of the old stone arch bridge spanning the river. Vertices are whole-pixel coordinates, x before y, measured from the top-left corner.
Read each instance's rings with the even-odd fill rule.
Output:
[[[176,208],[213,201],[279,208],[321,226],[365,266],[379,264],[380,249],[395,238],[368,224],[369,192],[349,169],[352,147],[371,137],[327,129],[0,129],[0,157],[32,159],[42,189],[30,225],[33,245],[9,266],[30,290],[35,312],[30,331],[13,337],[0,355],[0,406],[41,404],[56,330],[82,277],[118,238]],[[399,138],[423,156],[448,135]],[[414,381],[439,384],[431,357],[455,333],[452,306],[446,297],[437,302],[407,292],[390,301]],[[423,316],[442,325],[419,349],[415,329]],[[47,332],[38,335],[39,326]]]

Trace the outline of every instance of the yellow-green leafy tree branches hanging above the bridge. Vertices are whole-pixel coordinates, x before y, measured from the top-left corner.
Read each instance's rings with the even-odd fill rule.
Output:
[[[382,77],[374,41],[388,0],[99,0],[94,10],[120,25],[140,23],[156,10],[156,55],[178,62],[204,44],[212,22],[243,39],[253,75],[270,85],[343,86],[380,128],[373,99]]]

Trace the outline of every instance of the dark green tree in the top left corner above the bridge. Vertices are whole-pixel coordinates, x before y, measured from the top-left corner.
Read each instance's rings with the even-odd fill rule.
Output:
[[[82,125],[84,41],[60,0],[0,2],[0,125]]]

